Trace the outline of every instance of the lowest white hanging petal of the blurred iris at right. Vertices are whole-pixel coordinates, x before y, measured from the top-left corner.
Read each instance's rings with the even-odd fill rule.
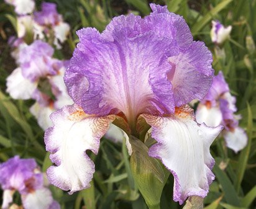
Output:
[[[232,131],[223,131],[223,136],[228,148],[233,149],[235,153],[244,149],[247,145],[248,137],[244,129],[234,128]]]

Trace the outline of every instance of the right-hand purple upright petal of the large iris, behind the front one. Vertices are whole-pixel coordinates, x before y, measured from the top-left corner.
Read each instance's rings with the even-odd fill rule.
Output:
[[[193,42],[185,52],[168,58],[168,79],[173,85],[175,105],[180,107],[193,99],[203,99],[211,87],[213,61],[203,42]]]

